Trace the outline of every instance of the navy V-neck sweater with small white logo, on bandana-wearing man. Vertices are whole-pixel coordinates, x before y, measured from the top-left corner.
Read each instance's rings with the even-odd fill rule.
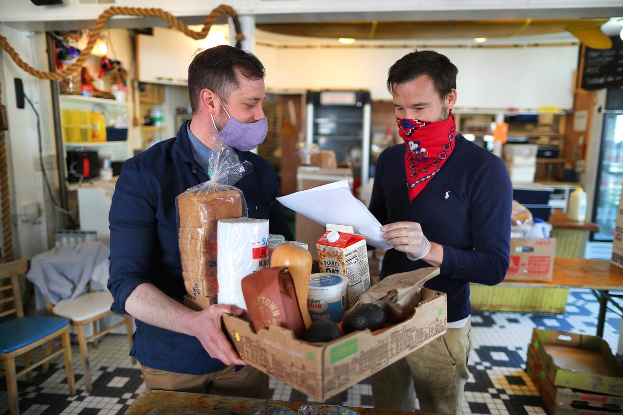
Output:
[[[369,210],[381,222],[419,222],[424,236],[444,247],[440,274],[424,287],[447,293],[448,322],[472,313],[469,283],[495,285],[508,271],[513,188],[502,159],[458,135],[454,151],[426,188],[409,201],[406,145],[379,155]],[[388,275],[430,267],[389,249]]]

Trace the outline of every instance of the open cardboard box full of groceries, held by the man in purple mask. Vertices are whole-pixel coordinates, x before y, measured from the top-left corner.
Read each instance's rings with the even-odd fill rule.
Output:
[[[429,343],[447,330],[445,293],[422,288],[422,301],[404,322],[353,332],[328,343],[298,340],[278,325],[254,332],[250,323],[223,316],[224,331],[249,365],[324,401]]]

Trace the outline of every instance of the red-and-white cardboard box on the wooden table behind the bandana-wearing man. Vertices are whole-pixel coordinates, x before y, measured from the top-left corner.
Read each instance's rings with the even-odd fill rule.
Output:
[[[510,264],[505,281],[551,281],[556,238],[510,239]]]

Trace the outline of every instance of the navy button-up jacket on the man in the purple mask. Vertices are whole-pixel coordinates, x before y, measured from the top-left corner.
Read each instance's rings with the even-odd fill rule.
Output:
[[[252,173],[235,187],[242,190],[249,217],[269,219],[270,233],[292,240],[270,163],[249,151],[237,151]],[[178,247],[175,198],[209,178],[193,158],[186,123],[178,136],[161,141],[126,161],[110,207],[110,278],[115,302],[111,310],[125,312],[125,302],[140,284],[149,282],[183,302],[186,293]],[[224,368],[194,336],[171,332],[136,320],[130,355],[143,365],[176,373],[206,374]]]

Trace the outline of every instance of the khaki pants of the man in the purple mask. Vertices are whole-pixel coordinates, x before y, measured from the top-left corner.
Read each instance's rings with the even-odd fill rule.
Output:
[[[184,374],[152,369],[141,365],[148,391],[164,390],[220,396],[270,399],[269,375],[246,365],[235,372],[234,366],[208,374]]]

